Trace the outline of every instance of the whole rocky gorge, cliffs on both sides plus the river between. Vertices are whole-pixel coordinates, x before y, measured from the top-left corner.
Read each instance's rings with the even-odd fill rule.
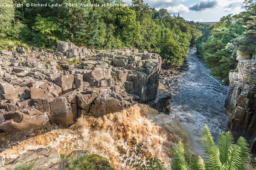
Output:
[[[125,168],[117,149],[129,147],[132,137],[145,147],[142,159],[157,157],[170,168],[170,145],[181,140],[201,153],[198,140],[204,125],[216,139],[227,122],[232,133],[244,130],[240,122],[250,126],[247,115],[255,113],[250,78],[256,77],[255,60],[239,61],[238,73],[230,72],[229,90],[210,74],[195,50],[189,51],[186,70],[160,79],[158,54],[132,48],[90,50],[70,42],[57,47],[0,51],[0,163],[10,162],[3,170],[31,159],[40,169],[58,169],[64,164],[59,154],[76,150],[103,156],[116,169]],[[170,94],[170,112],[157,113],[153,108],[163,111]],[[241,112],[240,105],[247,112]],[[253,129],[246,135],[251,135],[250,142]],[[44,166],[46,161],[50,163]]]

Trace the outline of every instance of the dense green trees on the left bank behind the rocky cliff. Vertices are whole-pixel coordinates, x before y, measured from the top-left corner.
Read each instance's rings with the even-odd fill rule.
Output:
[[[12,4],[12,0],[7,1],[4,3]],[[26,7],[26,3],[38,3],[36,0],[15,3],[24,7],[1,7],[0,40],[16,40],[38,47],[49,47],[60,40],[93,49],[132,47],[160,53],[165,62],[180,65],[187,58],[189,45],[194,45],[204,31],[204,25],[171,16],[166,9],[157,11],[143,0],[132,0],[136,6],[118,8],[79,4],[122,5],[121,0],[40,1],[63,4],[57,7]],[[66,3],[77,5],[66,6]]]

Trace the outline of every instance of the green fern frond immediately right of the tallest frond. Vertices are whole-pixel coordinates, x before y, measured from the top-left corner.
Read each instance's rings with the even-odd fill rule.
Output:
[[[229,157],[229,147],[231,144],[233,144],[233,140],[233,135],[229,131],[222,132],[219,136],[218,147],[220,149],[220,160],[222,164],[227,162]]]

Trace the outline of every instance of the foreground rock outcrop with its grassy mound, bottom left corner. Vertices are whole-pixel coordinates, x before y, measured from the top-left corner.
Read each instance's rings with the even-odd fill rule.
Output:
[[[73,150],[70,154],[63,156],[62,159],[58,150],[55,150],[52,146],[26,151],[15,159],[0,156],[0,170],[84,169],[88,168],[87,166],[113,169],[108,159],[96,154],[90,154],[87,150]]]

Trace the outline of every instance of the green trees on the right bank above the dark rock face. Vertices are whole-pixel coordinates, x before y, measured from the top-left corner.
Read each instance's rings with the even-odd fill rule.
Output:
[[[245,0],[244,5],[245,11],[222,17],[197,40],[198,54],[221,79],[236,68],[237,50],[251,55],[256,53],[256,3]]]

